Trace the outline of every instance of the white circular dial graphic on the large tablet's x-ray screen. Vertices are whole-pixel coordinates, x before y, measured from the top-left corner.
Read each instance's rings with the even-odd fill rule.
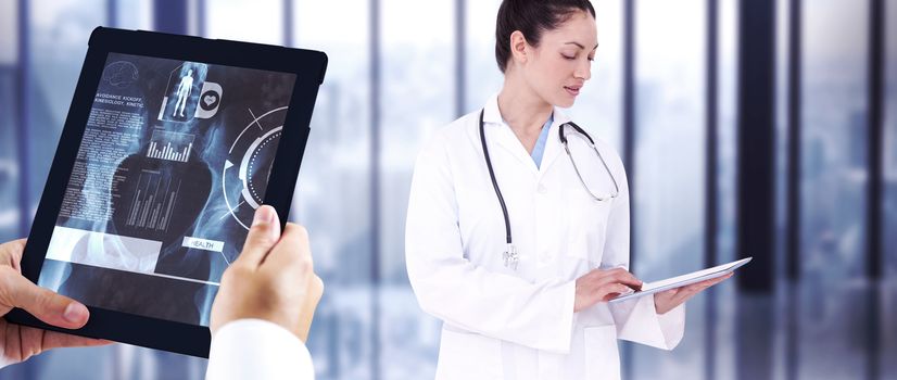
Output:
[[[222,191],[230,215],[245,229],[252,225],[255,210],[264,202],[286,117],[286,106],[257,117],[253,114],[253,119],[228,151],[222,173]]]

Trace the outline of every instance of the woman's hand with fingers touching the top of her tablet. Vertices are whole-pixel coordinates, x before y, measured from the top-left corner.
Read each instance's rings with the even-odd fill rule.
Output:
[[[593,269],[577,279],[573,313],[607,302],[629,290],[642,289],[642,281],[623,268]]]

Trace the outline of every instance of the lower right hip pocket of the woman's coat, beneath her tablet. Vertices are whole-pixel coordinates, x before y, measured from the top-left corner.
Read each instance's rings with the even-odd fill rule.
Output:
[[[620,379],[620,353],[617,346],[617,327],[614,325],[586,327],[584,379]]]

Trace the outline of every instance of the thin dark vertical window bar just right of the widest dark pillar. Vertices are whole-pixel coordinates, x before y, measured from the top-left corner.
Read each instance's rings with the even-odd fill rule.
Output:
[[[788,159],[787,159],[787,233],[785,276],[787,281],[787,318],[785,329],[785,378],[798,378],[800,342],[800,239],[801,239],[801,129],[803,129],[803,35],[801,0],[788,2]]]

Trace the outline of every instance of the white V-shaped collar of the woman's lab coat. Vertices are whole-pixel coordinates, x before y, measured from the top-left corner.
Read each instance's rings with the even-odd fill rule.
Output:
[[[557,128],[570,122],[570,117],[564,114],[559,107],[555,106],[553,112],[554,122],[552,122],[552,126],[548,129],[548,140],[545,141],[545,152],[542,154],[542,163],[539,167],[535,166],[532,156],[527,153],[523,144],[520,143],[520,140],[517,139],[517,136],[514,135],[514,131],[510,130],[510,127],[507,126],[502,117],[502,113],[498,111],[497,93],[490,98],[483,106],[483,124],[485,124],[484,127],[489,125],[503,126],[504,130],[498,134],[500,136],[496,142],[508,150],[518,161],[530,166],[534,174],[540,175],[545,173],[563,152],[560,140],[557,137]]]

